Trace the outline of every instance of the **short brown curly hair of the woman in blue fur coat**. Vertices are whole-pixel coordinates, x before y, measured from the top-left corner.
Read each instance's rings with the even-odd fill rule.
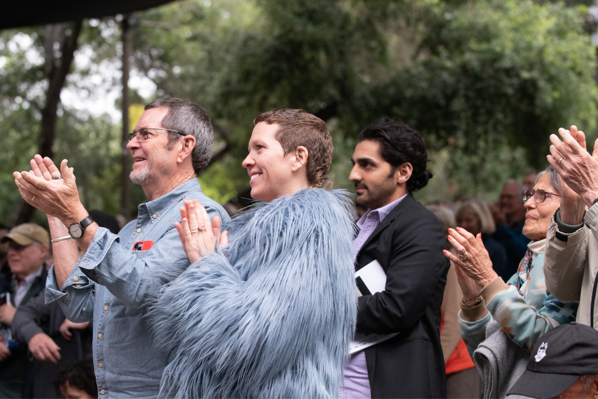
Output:
[[[285,156],[297,147],[307,148],[307,181],[313,188],[332,188],[332,181],[327,177],[332,168],[332,136],[326,122],[303,109],[272,109],[263,112],[254,120],[254,125],[266,122],[278,124],[276,139],[282,145]]]

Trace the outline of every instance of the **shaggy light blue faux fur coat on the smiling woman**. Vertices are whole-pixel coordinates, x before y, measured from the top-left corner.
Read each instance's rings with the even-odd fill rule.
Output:
[[[169,354],[161,397],[336,397],[355,331],[349,200],[301,190],[227,226],[150,312]]]

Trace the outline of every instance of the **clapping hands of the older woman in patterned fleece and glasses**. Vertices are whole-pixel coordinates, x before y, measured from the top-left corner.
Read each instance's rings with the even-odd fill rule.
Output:
[[[459,256],[446,250],[443,251],[444,256],[453,261],[463,290],[463,301],[467,302],[479,296],[481,289],[498,275],[492,269],[492,261],[484,248],[481,234],[474,237],[474,234],[457,227],[457,230],[449,229],[449,240]]]

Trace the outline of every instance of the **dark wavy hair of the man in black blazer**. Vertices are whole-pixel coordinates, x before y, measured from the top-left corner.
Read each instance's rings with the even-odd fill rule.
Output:
[[[392,166],[392,173],[396,167],[408,162],[413,167],[411,177],[407,181],[408,191],[417,191],[426,187],[432,178],[431,170],[426,169],[428,153],[423,141],[422,133],[398,121],[382,118],[359,133],[358,142],[373,140],[380,143],[380,156]]]

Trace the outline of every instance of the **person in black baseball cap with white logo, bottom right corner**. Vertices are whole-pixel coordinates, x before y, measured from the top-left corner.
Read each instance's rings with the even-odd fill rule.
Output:
[[[598,398],[598,331],[574,321],[548,331],[508,395]]]

